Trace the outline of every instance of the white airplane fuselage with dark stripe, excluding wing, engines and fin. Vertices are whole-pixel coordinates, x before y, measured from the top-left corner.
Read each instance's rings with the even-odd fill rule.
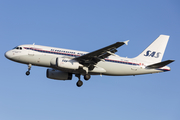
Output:
[[[40,45],[20,45],[18,47],[19,49],[7,51],[5,56],[15,62],[51,68],[54,68],[52,64],[57,57],[73,59],[87,54],[87,52],[82,51]],[[124,58],[114,54],[98,62],[96,68],[89,71],[89,74],[123,76],[170,71],[170,68],[167,66],[160,69],[147,69],[146,66],[149,64],[151,63],[143,60]],[[60,70],[72,73],[78,72],[76,70]]]

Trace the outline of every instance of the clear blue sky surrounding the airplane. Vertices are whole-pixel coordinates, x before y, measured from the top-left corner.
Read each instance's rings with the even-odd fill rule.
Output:
[[[1,0],[0,120],[180,120],[178,0]],[[46,69],[4,57],[21,44],[91,52],[130,40],[117,54],[133,58],[160,34],[170,72],[55,81]],[[83,79],[83,78],[82,78]]]

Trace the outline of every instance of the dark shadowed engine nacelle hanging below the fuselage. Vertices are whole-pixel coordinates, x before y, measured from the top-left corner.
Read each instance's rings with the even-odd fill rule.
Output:
[[[60,70],[47,69],[46,72],[47,78],[56,79],[56,80],[71,80],[72,73],[62,72]]]

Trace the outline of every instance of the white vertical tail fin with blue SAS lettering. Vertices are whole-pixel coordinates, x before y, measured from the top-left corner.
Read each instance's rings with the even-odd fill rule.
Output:
[[[161,62],[169,37],[170,36],[168,35],[160,35],[135,59],[143,60],[151,63]]]

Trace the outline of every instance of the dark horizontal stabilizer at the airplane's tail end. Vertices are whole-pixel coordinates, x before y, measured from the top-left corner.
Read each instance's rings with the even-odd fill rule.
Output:
[[[166,65],[168,65],[168,64],[170,64],[172,62],[174,62],[174,60],[166,60],[166,61],[163,61],[163,62],[148,65],[146,68],[149,68],[149,69],[161,68],[161,67],[164,67],[164,66],[166,66]]]

